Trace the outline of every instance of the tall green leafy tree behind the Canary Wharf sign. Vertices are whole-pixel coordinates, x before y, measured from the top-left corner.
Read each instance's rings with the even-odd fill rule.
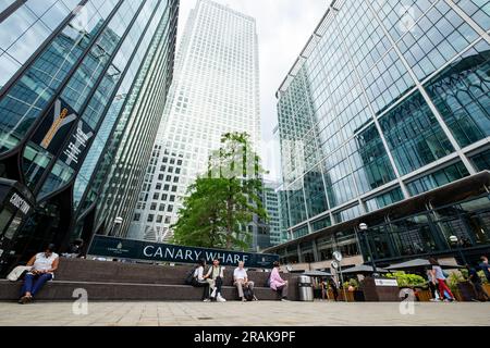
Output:
[[[254,215],[267,220],[262,207],[260,159],[245,133],[224,134],[208,162],[208,172],[189,186],[173,241],[184,246],[247,249]]]

